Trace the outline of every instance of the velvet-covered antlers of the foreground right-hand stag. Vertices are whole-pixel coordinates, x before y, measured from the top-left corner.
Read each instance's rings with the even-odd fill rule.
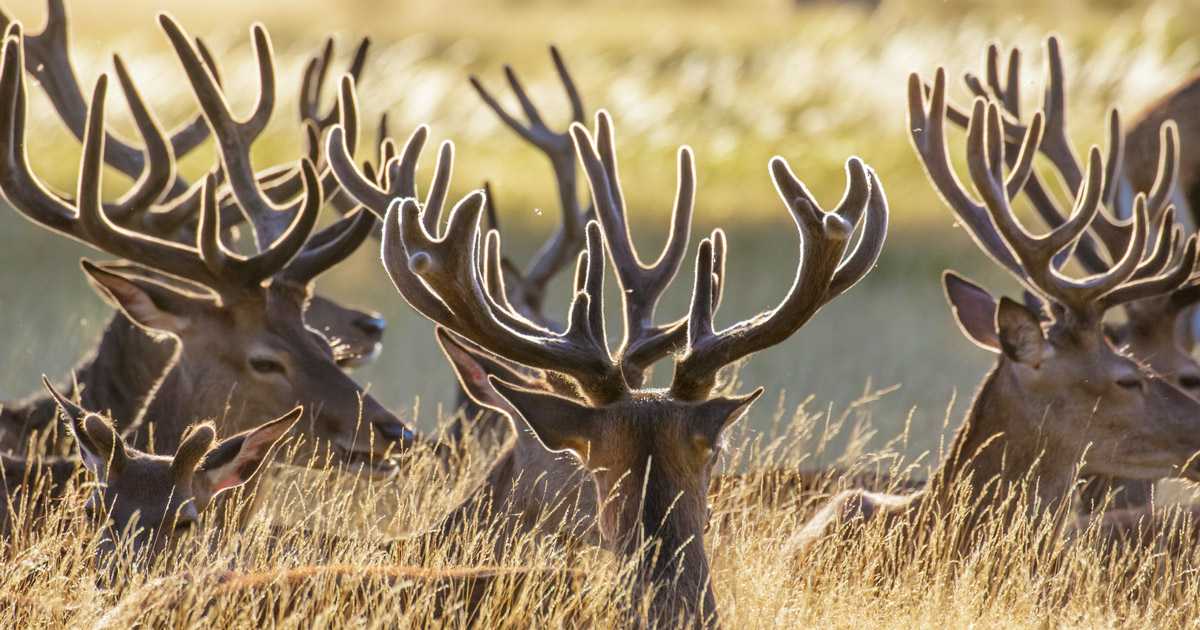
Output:
[[[1034,114],[1015,164],[1004,178],[1006,140],[1000,106],[995,101],[976,100],[967,124],[967,162],[971,180],[983,199],[980,204],[966,192],[949,167],[944,113],[946,71],[937,71],[928,108],[920,77],[913,73],[908,82],[910,128],[930,181],[984,251],[1026,287],[1070,312],[1078,323],[1087,325],[1111,306],[1162,294],[1192,275],[1198,253],[1195,238],[1189,238],[1182,253],[1176,256],[1171,245],[1178,236],[1171,232],[1177,228],[1157,221],[1156,234],[1148,235],[1151,226],[1145,197],[1135,203],[1130,238],[1111,266],[1082,280],[1062,275],[1055,264],[1056,256],[1078,244],[1100,211],[1106,173],[1100,150],[1093,146],[1088,152],[1087,169],[1070,217],[1050,233],[1033,236],[1013,215],[1009,200],[1030,181],[1046,116],[1042,112]],[[1151,238],[1156,247],[1144,256]],[[1163,252],[1170,253],[1164,256]]]

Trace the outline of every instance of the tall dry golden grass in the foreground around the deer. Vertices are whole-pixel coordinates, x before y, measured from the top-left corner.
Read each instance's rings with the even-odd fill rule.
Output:
[[[806,406],[780,407],[769,431],[734,430],[724,467],[812,467],[811,454],[833,434],[871,431],[881,395],[868,391],[833,418]],[[62,502],[44,528],[4,547],[0,626],[462,628],[469,620],[479,628],[629,628],[641,605],[624,587],[631,568],[602,550],[548,536],[510,542],[500,566],[547,571],[491,584],[470,619],[457,604],[461,587],[384,578],[395,566],[437,574],[488,558],[496,530],[486,523],[469,523],[449,539],[422,536],[488,457],[468,449],[466,464],[448,476],[440,462],[416,454],[401,478],[386,482],[313,466],[276,468],[258,488],[270,500],[247,529],[218,533],[209,515],[180,548],[145,565],[124,558],[100,565],[80,502]],[[851,448],[826,457],[847,474],[871,470],[896,480],[924,476],[934,463],[932,454],[905,452],[902,437],[883,451]],[[955,554],[948,541],[960,534],[966,503],[925,532],[920,545],[899,538],[902,527],[880,522],[824,540],[797,564],[785,545],[827,493],[764,500],[750,494],[751,484],[731,484],[713,497],[706,546],[726,628],[1188,628],[1200,614],[1194,551],[1106,554],[1094,529],[1063,536],[1046,521],[1018,520],[974,532],[978,544]],[[840,484],[832,478],[829,492]],[[310,565],[325,569],[300,582],[268,577],[253,588],[232,578]],[[580,574],[564,575],[568,569]]]

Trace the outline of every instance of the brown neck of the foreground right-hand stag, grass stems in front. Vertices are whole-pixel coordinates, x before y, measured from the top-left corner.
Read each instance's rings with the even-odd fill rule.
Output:
[[[1058,515],[1075,484],[1079,457],[1073,455],[1082,454],[1051,452],[1058,445],[1049,444],[1043,431],[1044,422],[1061,416],[1057,401],[1022,391],[1013,370],[1001,359],[988,374],[924,493],[935,502],[935,517],[954,505],[971,506],[965,530],[983,518]],[[1001,510],[1013,492],[1027,492],[1025,509]]]

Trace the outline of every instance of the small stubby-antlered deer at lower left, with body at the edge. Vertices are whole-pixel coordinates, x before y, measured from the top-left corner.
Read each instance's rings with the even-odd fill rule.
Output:
[[[79,461],[4,456],[8,504],[0,514],[0,530],[11,536],[13,517],[34,522],[34,512],[44,510],[48,499],[64,498],[82,462],[96,481],[84,512],[100,527],[98,551],[107,558],[120,552],[137,562],[172,550],[191,533],[215,497],[253,478],[304,412],[296,407],[220,442],[211,422],[192,425],[173,456],[151,455],[126,443],[112,420],[74,403],[44,376],[42,382],[78,445]],[[46,486],[36,502],[26,503],[38,488],[36,480]]]

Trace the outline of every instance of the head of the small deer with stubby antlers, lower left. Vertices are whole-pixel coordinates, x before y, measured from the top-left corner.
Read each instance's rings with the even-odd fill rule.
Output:
[[[187,535],[212,498],[245,484],[271,448],[302,414],[295,408],[277,420],[216,442],[211,424],[193,425],[175,455],[150,455],[125,443],[116,427],[46,388],[62,410],[79,456],[96,486],[85,510],[104,523],[103,548],[155,556]]]

